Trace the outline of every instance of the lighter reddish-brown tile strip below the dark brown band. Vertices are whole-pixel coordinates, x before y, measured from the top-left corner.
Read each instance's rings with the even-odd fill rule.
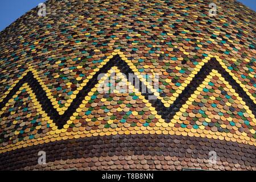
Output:
[[[47,164],[27,166],[20,170],[61,170],[61,171],[96,171],[96,170],[256,170],[256,167],[245,166],[239,163],[217,161],[211,164],[205,159],[179,158],[176,156],[132,155],[132,156],[106,156],[94,158],[79,158],[55,160]]]

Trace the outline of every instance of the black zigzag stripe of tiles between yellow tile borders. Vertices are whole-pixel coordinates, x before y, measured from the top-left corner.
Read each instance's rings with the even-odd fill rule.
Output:
[[[1,108],[6,105],[6,103],[10,100],[10,98],[13,97],[13,95],[16,93],[16,91],[19,90],[20,86],[24,84],[24,82],[27,82],[32,90],[36,93],[36,97],[39,100],[40,104],[43,107],[43,110],[46,111],[46,113],[49,115],[49,117],[56,123],[59,129],[65,125],[65,123],[68,121],[68,119],[71,117],[71,115],[76,111],[77,107],[81,104],[83,98],[88,94],[90,89],[93,88],[94,85],[97,84],[97,77],[100,75],[100,73],[105,73],[108,71],[111,67],[116,66],[118,69],[121,70],[122,73],[124,73],[127,77],[129,73],[134,73],[132,69],[127,65],[125,61],[122,61],[122,59],[115,55],[108,63],[106,63],[96,74],[93,75],[93,77],[90,79],[88,84],[84,86],[82,90],[77,94],[76,98],[72,101],[71,106],[68,107],[68,109],[65,111],[65,114],[60,115],[55,108],[53,108],[51,100],[47,97],[46,92],[42,89],[42,86],[40,86],[39,82],[34,78],[33,74],[31,72],[28,72],[26,76],[22,78],[18,82],[18,84],[15,85],[12,93],[9,94],[3,102],[1,102]],[[246,105],[250,107],[250,109],[253,111],[253,114],[256,115],[256,107],[254,102],[250,99],[250,97],[246,94],[246,92],[241,88],[241,86],[233,80],[232,76],[229,75],[228,72],[225,71],[224,68],[218,63],[216,58],[210,59],[207,63],[204,64],[204,66],[200,69],[199,72],[197,72],[197,75],[193,77],[193,80],[189,82],[189,84],[185,87],[185,89],[179,94],[179,96],[176,98],[176,100],[171,104],[170,107],[164,106],[161,100],[156,98],[156,100],[149,100],[152,104],[152,106],[155,107],[156,111],[158,111],[158,114],[162,116],[162,118],[168,123],[171,121],[171,119],[174,117],[175,113],[180,110],[180,107],[185,104],[185,102],[188,100],[188,98],[191,96],[191,94],[196,90],[196,88],[204,81],[205,77],[209,75],[209,73],[212,71],[212,69],[216,69],[222,77],[224,77],[230,85],[232,85],[232,88],[236,90],[236,92],[240,95],[240,97],[243,98],[243,100],[246,102]],[[141,90],[141,87],[146,86],[144,82],[139,81],[139,87],[137,88]],[[148,99],[148,96],[150,95],[150,92],[148,92],[148,89],[146,90],[146,93],[142,93],[142,95]],[[40,96],[40,98],[39,98]]]

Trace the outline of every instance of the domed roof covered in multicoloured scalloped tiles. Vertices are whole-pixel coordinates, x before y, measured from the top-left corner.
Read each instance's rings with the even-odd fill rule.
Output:
[[[52,0],[0,32],[0,169],[255,170],[255,12],[210,3]]]

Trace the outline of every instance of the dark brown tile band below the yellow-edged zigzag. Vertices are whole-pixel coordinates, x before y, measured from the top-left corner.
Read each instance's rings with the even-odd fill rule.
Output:
[[[38,152],[46,152],[46,162],[112,156],[170,156],[179,159],[209,159],[215,151],[222,163],[256,165],[256,147],[218,139],[177,135],[110,135],[61,140],[20,148],[0,154],[0,169],[13,170],[38,164]]]

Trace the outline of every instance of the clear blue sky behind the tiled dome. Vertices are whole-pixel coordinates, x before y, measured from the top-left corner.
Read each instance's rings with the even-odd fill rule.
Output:
[[[0,31],[9,26],[16,19],[27,11],[38,6],[39,3],[46,0],[1,0],[0,2]],[[225,1],[225,0],[224,0]],[[255,0],[238,0],[244,5],[256,11]]]

